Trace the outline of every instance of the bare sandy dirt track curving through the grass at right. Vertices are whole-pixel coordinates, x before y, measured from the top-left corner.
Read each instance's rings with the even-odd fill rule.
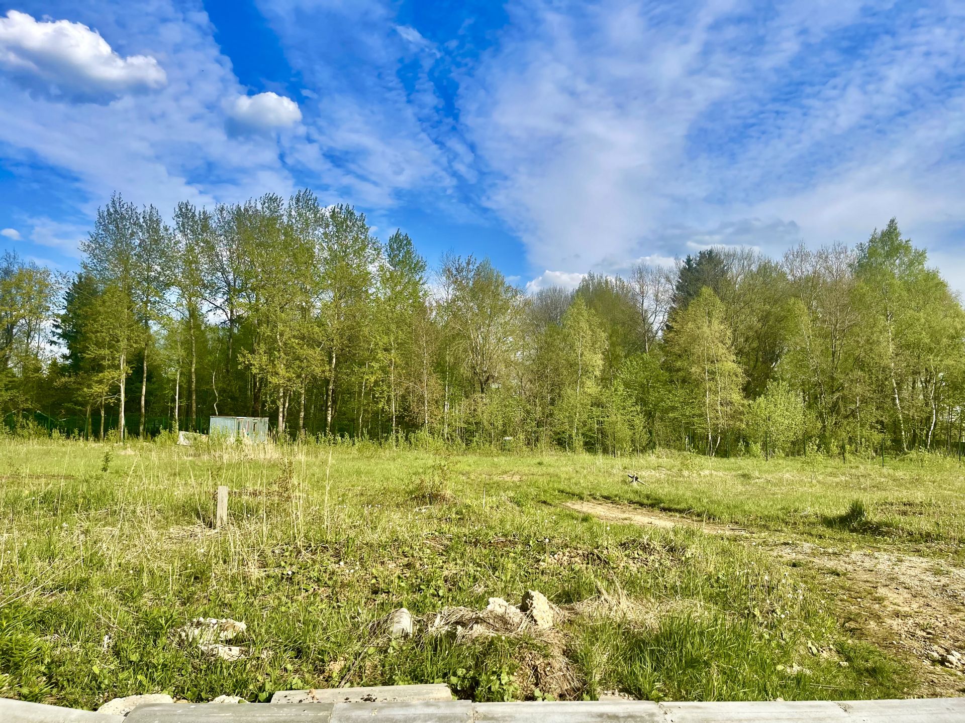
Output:
[[[965,570],[961,568],[914,554],[841,551],[803,541],[780,543],[771,534],[632,505],[574,500],[565,506],[607,522],[663,528],[686,525],[753,540],[759,548],[813,571],[817,583],[835,601],[845,629],[909,661],[921,684],[918,695],[965,694]]]

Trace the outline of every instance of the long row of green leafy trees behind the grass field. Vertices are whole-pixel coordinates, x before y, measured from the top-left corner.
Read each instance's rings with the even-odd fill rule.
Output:
[[[170,223],[115,195],[75,274],[0,264],[9,429],[103,439],[270,416],[280,437],[625,454],[957,453],[965,312],[896,221],[780,259],[527,295],[487,260],[429,273],[302,191]],[[112,432],[113,430],[113,432]]]

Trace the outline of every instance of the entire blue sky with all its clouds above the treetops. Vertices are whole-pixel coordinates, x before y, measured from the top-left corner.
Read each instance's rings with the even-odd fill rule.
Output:
[[[0,244],[309,187],[531,288],[896,216],[965,290],[965,4],[0,1]]]

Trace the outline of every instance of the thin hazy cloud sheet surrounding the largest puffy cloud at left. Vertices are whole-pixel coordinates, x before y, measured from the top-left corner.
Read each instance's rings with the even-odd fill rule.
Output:
[[[58,189],[75,204],[78,223],[93,218],[115,191],[167,214],[179,201],[243,201],[297,187],[280,146],[295,154],[303,139],[280,144],[268,135],[226,132],[222,104],[243,89],[207,14],[173,0],[101,0],[76,5],[74,12],[105,37],[124,37],[132,47],[178,63],[167,67],[167,84],[150,99],[124,96],[109,104],[53,102],[0,72],[0,145],[14,160],[14,173],[26,163],[57,169]],[[69,253],[83,235],[55,229],[44,238]]]

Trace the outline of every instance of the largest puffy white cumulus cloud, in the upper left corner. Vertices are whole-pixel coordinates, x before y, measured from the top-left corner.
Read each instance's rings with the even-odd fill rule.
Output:
[[[82,100],[155,90],[167,82],[154,58],[124,58],[87,25],[38,21],[15,10],[0,17],[0,67],[35,92]]]

